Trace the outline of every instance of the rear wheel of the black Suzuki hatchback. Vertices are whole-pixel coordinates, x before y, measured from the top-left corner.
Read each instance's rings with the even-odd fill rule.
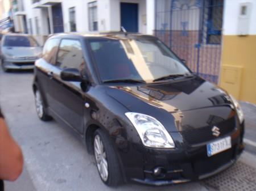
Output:
[[[42,94],[38,89],[35,90],[35,107],[38,117],[42,121],[50,121],[52,117],[46,113],[46,109],[43,104]]]

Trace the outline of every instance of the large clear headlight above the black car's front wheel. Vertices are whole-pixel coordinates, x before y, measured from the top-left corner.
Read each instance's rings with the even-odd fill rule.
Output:
[[[154,148],[174,148],[174,141],[166,128],[154,117],[142,113],[127,112],[144,146]]]

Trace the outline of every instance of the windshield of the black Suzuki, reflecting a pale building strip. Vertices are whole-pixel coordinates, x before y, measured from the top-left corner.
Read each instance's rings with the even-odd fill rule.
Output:
[[[190,73],[179,58],[155,38],[98,37],[89,39],[89,47],[103,82],[122,79],[153,82]]]

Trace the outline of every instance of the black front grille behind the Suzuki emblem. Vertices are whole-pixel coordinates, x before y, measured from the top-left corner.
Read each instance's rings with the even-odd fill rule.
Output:
[[[211,141],[215,139],[211,126],[204,126],[202,128],[190,128],[184,131],[181,131],[181,135],[184,138],[184,141],[189,145],[196,145],[204,142]],[[236,129],[236,119],[235,117],[229,118],[228,120],[219,122],[216,126],[220,129],[220,137],[223,137],[229,133],[232,133]]]

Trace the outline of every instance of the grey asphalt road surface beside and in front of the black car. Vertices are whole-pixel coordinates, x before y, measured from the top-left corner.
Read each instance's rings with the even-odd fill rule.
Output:
[[[213,185],[212,180],[160,188],[133,183],[118,188],[105,186],[98,176],[93,156],[87,154],[85,146],[55,121],[42,122],[36,116],[32,78],[31,71],[0,71],[0,105],[11,134],[22,147],[25,163],[22,176],[15,182],[6,182],[6,191],[221,190],[221,184]],[[249,172],[251,176],[256,175],[255,155],[244,152],[239,166],[235,165],[238,171],[249,167],[253,169]],[[237,176],[238,172],[231,168],[221,176]],[[239,177],[239,180],[243,178],[246,177]],[[252,184],[251,190],[256,190],[256,183],[255,187]]]

